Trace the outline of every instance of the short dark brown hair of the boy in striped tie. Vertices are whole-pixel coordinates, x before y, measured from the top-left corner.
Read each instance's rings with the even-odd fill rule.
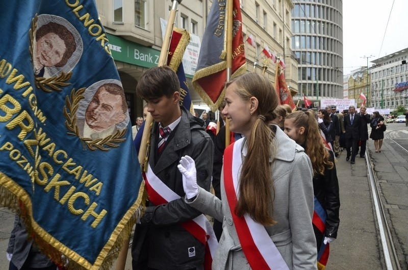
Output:
[[[136,86],[136,93],[145,100],[171,97],[174,92],[180,92],[180,81],[168,66],[149,68]]]

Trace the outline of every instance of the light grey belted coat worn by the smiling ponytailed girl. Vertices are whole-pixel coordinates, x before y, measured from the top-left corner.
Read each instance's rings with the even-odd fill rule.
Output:
[[[312,164],[304,149],[281,129],[276,128],[274,140],[277,153],[273,162],[270,159],[270,164],[275,194],[273,219],[277,224],[266,227],[266,230],[289,269],[316,269],[317,250],[312,227]],[[246,147],[241,154],[244,159]],[[190,203],[203,213],[223,221],[223,233],[213,260],[213,269],[250,269],[226,202],[223,171],[221,198],[222,201],[200,188],[196,199]]]

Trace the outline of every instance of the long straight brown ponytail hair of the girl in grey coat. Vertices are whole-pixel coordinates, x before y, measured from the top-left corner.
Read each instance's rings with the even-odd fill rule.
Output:
[[[265,120],[257,118],[249,138],[246,138],[248,153],[242,163],[235,213],[239,217],[248,213],[254,221],[265,226],[272,225],[275,223],[272,219],[274,188],[269,158],[271,156],[273,160],[275,153],[267,146],[272,145],[272,149],[275,149],[273,147],[275,133],[268,123],[272,120],[273,110],[278,105],[277,95],[267,78],[253,72],[234,78],[226,84],[226,87],[231,84],[235,84],[236,93],[243,101],[248,101],[251,97],[257,98],[258,110],[254,114],[265,117]]]

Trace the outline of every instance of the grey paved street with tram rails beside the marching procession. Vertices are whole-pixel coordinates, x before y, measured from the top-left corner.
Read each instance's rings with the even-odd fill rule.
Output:
[[[408,129],[403,124],[389,124],[387,133],[396,143],[408,148]],[[389,139],[384,140],[381,153],[374,152],[372,140],[367,143],[401,268],[408,269],[408,154]],[[343,151],[336,167],[340,183],[341,223],[338,238],[330,245],[327,269],[386,269],[366,161],[358,155],[355,164],[351,165]],[[9,210],[0,208],[0,270],[8,269],[5,251],[12,225],[13,215]],[[130,252],[127,258],[126,270],[131,269]],[[115,264],[112,269],[115,269]]]

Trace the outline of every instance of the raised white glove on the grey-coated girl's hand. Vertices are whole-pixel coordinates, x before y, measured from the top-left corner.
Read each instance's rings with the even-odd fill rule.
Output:
[[[198,194],[197,171],[195,170],[194,159],[188,155],[183,156],[177,168],[183,174],[183,188],[187,199],[194,198]]]

